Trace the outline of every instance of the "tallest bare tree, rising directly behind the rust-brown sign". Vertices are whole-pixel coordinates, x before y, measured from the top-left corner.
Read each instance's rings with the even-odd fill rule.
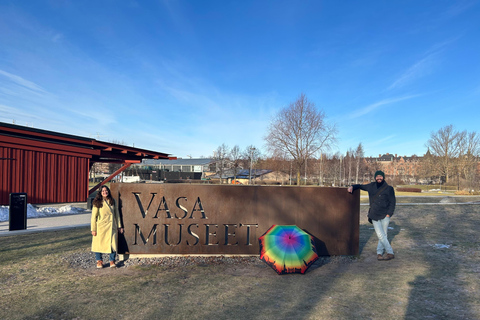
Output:
[[[325,113],[302,93],[272,119],[265,141],[270,153],[286,153],[293,158],[299,184],[306,159],[329,149],[336,141],[336,133],[335,125],[326,122]]]

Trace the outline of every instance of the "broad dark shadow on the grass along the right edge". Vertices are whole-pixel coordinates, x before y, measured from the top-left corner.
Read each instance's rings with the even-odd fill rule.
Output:
[[[469,279],[460,274],[461,269],[468,269],[465,255],[455,254],[454,247],[439,249],[435,244],[470,243],[472,235],[478,235],[479,220],[475,205],[439,205],[428,217],[405,220],[405,227],[414,231],[415,242],[427,247],[423,253],[427,272],[409,283],[412,290],[406,319],[419,315],[432,319],[477,319],[478,314],[470,306],[472,296],[466,293]],[[474,279],[478,280],[475,275],[470,280]]]

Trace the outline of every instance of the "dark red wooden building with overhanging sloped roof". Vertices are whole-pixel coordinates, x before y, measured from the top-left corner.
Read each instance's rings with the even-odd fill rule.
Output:
[[[165,153],[127,147],[0,122],[0,205],[9,194],[27,193],[29,203],[87,201],[95,162],[121,163],[105,183],[142,159],[175,159]],[[98,187],[98,186],[97,186]]]

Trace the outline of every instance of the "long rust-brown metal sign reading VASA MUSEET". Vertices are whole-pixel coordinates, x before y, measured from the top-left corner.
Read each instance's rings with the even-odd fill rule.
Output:
[[[125,232],[121,254],[258,254],[272,225],[297,225],[319,255],[359,252],[360,193],[345,188],[111,185]]]

